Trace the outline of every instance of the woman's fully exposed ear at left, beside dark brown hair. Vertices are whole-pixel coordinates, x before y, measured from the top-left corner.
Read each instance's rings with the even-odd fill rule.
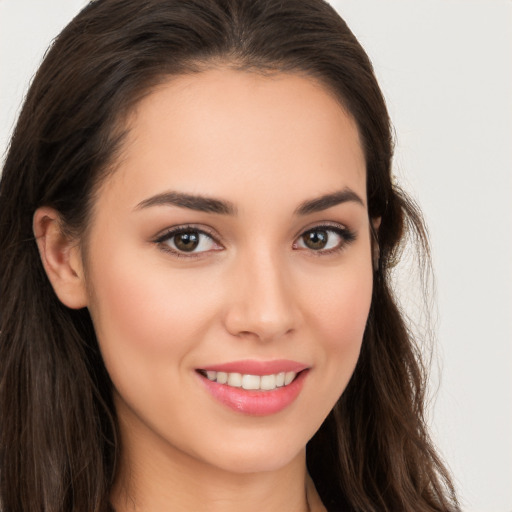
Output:
[[[32,229],[48,279],[65,306],[80,309],[87,305],[80,248],[61,226],[60,215],[53,208],[36,210]]]

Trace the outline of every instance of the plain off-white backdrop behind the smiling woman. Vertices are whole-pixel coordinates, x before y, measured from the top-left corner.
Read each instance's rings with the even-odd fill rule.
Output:
[[[431,233],[434,438],[464,510],[512,512],[512,2],[332,4],[374,63],[397,180]],[[2,154],[45,49],[84,5],[0,0]]]

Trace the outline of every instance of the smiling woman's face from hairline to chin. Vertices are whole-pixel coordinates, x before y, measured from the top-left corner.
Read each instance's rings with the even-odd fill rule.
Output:
[[[99,191],[85,264],[126,453],[236,472],[303,456],[370,307],[353,119],[298,75],[160,86]]]

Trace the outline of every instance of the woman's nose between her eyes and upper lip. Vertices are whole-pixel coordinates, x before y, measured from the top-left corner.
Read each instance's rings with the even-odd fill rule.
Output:
[[[240,257],[230,272],[225,327],[240,338],[272,341],[297,328],[299,309],[287,265],[270,251]]]

